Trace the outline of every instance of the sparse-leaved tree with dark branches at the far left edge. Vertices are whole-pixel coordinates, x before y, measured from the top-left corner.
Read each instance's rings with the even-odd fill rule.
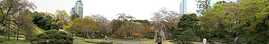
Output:
[[[34,10],[35,8],[36,6],[32,2],[29,2],[28,0],[0,0],[0,13],[1,13],[0,24],[5,26],[7,31],[17,30],[17,32],[11,31],[13,33],[16,33],[17,36],[19,34],[29,36],[30,34],[27,34],[26,30],[29,32],[32,32],[33,31],[31,30],[32,28],[28,28],[29,30],[28,29],[19,30],[19,29],[24,28],[20,26],[31,25],[31,19],[29,19],[31,18],[30,10]],[[29,17],[29,18],[23,18],[23,17]],[[7,23],[7,21],[9,21],[9,23]],[[8,25],[11,25],[11,26],[8,26]],[[18,28],[12,29],[15,27],[18,27]],[[10,29],[7,29],[7,28],[10,28]],[[19,31],[25,31],[25,33],[19,33]]]

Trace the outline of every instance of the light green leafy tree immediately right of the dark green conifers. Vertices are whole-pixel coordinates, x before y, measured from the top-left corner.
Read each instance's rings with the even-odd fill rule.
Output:
[[[229,31],[232,22],[226,19],[224,8],[226,7],[222,6],[222,3],[216,3],[213,9],[207,9],[207,12],[199,17],[202,31],[216,35],[218,38],[224,34],[224,31]]]

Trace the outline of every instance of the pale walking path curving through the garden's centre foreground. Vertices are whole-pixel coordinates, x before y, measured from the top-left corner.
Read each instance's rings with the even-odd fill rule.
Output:
[[[108,37],[108,39],[100,39],[102,41],[107,41],[107,42],[118,42],[118,43],[122,43],[122,44],[141,44],[142,42],[145,42],[145,41],[116,41],[116,40],[111,40],[111,38]]]

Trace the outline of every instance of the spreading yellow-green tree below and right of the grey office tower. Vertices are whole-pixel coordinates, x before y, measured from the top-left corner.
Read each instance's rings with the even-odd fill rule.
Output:
[[[99,31],[101,27],[97,26],[97,22],[94,22],[92,19],[74,19],[70,21],[67,26],[63,26],[64,30],[71,32],[71,33],[79,33],[86,35],[90,39],[90,33],[94,31]]]

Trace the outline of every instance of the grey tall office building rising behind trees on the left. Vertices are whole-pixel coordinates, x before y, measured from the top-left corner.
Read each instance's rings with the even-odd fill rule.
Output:
[[[76,1],[75,6],[71,9],[71,14],[78,14],[79,17],[83,17],[83,3],[81,0]]]

